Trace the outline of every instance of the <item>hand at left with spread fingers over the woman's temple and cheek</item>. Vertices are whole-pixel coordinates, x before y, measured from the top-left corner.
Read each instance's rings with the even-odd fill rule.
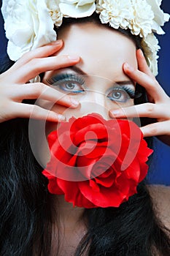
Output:
[[[10,69],[0,75],[0,123],[12,118],[36,118],[47,121],[63,121],[59,113],[38,105],[23,103],[23,99],[46,99],[70,108],[79,102],[50,88],[45,83],[28,83],[42,72],[73,66],[78,56],[53,56],[63,45],[61,40],[36,48],[23,55]]]

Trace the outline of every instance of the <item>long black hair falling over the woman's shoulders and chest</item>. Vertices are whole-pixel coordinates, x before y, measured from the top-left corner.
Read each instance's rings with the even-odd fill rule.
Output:
[[[28,120],[6,121],[0,130],[0,255],[50,255],[56,209],[31,151]],[[169,255],[169,230],[155,215],[146,181],[137,191],[119,208],[85,209],[88,233],[76,256],[87,249],[90,256]]]

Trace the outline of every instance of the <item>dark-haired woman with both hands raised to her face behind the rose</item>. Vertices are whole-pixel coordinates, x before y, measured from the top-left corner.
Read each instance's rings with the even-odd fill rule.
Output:
[[[93,10],[93,2],[90,7]],[[147,67],[142,50],[136,50],[141,39],[131,35],[131,29],[101,25],[98,15],[91,14],[69,22],[66,18],[57,33],[58,41],[26,53],[0,77],[1,255],[169,255],[169,230],[156,217],[144,181],[120,207],[73,208],[63,195],[47,191],[42,166],[48,151],[37,138],[32,153],[27,118],[40,119],[31,123],[39,133],[41,120],[49,121],[47,134],[56,122],[91,112],[105,119],[156,118],[141,128],[144,137],[169,135],[170,122],[169,113],[164,113],[169,97]],[[19,56],[18,48],[13,50],[9,48],[13,57]],[[42,83],[28,84],[42,72]],[[138,103],[146,100],[136,83],[152,103],[134,106],[134,98]],[[38,101],[31,105],[28,99]]]

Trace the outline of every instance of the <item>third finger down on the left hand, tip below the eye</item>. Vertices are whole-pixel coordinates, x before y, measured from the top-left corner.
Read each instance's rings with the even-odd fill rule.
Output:
[[[77,108],[79,105],[77,100],[44,83],[28,83],[18,86],[18,88],[15,88],[15,91],[12,91],[11,97],[13,100],[46,99],[50,102],[57,102],[58,104],[71,108]]]

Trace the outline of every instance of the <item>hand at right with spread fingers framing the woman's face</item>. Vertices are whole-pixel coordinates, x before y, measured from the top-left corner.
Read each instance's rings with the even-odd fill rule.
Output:
[[[118,110],[110,110],[109,115],[114,118],[155,118],[157,122],[140,128],[144,137],[158,136],[163,143],[170,146],[170,97],[163,91],[163,88],[152,75],[142,50],[136,51],[136,57],[139,69],[134,69],[134,67],[125,63],[123,64],[123,71],[131,80],[146,89],[150,102]]]

